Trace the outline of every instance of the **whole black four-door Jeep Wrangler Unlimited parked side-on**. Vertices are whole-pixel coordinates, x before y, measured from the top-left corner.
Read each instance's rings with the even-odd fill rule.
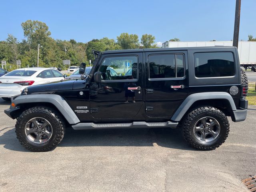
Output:
[[[94,51],[90,73],[30,86],[5,113],[29,150],[54,149],[65,128],[176,128],[200,150],[219,147],[246,119],[248,81],[235,47]]]

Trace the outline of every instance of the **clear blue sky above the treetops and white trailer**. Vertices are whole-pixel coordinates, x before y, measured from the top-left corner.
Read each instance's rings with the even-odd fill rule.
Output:
[[[156,42],[231,40],[236,0],[2,0],[0,40],[22,40],[21,23],[39,20],[52,38],[88,42],[122,32],[152,34]],[[256,0],[242,0],[239,40],[256,36]]]

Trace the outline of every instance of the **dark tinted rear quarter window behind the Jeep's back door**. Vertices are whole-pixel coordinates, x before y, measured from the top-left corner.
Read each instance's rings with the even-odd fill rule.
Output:
[[[234,57],[231,52],[195,53],[196,77],[234,76]]]

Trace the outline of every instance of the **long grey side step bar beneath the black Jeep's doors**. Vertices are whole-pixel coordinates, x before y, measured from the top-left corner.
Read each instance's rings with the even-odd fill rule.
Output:
[[[132,123],[111,123],[111,124],[103,124],[103,123],[78,123],[72,125],[74,130],[87,130],[87,129],[110,129],[110,128],[149,128],[149,127],[169,127],[176,128],[178,122],[132,122]]]

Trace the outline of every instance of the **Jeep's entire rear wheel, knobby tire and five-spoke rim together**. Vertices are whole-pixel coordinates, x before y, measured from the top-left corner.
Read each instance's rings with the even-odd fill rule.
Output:
[[[190,146],[200,150],[213,150],[228,137],[229,123],[217,108],[200,107],[184,117],[183,136]]]

